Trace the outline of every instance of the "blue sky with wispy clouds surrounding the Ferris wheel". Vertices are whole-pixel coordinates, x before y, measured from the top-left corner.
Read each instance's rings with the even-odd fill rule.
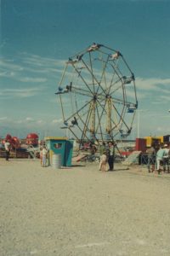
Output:
[[[135,75],[139,110],[131,137],[170,134],[170,1],[0,4],[0,136],[65,135],[54,93],[68,57],[93,42],[120,50]]]

